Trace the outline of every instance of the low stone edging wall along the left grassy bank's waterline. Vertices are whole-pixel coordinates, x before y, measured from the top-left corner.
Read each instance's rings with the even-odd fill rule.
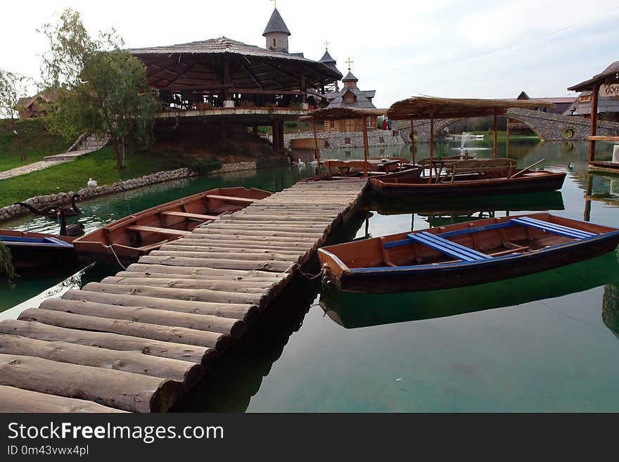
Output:
[[[241,172],[244,170],[255,170],[255,160],[251,162],[238,162],[236,164],[224,164],[222,168],[213,170],[211,174],[224,174],[230,172]],[[49,195],[39,195],[34,198],[23,200],[22,202],[28,203],[37,209],[48,207],[49,205],[63,204],[68,205],[71,203],[71,197],[73,194],[80,194],[82,198],[94,198],[100,195],[120,193],[122,191],[128,191],[129,189],[141,188],[142,186],[148,186],[151,184],[162,183],[164,181],[170,181],[180,178],[196,177],[196,172],[191,172],[186,167],[176,170],[167,170],[165,172],[157,172],[150,175],[144,175],[140,178],[129,179],[126,181],[119,181],[112,184],[112,186],[103,185],[96,188],[82,188],[77,192],[69,191],[68,193],[57,193]],[[32,213],[26,207],[21,205],[8,205],[0,208],[0,222],[11,218],[18,217],[19,215]]]

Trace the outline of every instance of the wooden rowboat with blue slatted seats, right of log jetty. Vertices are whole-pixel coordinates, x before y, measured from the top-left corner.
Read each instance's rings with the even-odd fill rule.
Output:
[[[413,292],[522,276],[603,255],[619,229],[537,213],[482,219],[320,248],[348,292]]]

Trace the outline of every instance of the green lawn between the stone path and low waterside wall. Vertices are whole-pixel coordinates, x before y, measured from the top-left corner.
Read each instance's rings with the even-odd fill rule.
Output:
[[[35,195],[77,191],[86,187],[89,178],[95,179],[99,186],[103,186],[178,167],[176,156],[127,152],[125,168],[117,170],[114,150],[107,147],[39,172],[0,180],[0,207],[21,202]]]

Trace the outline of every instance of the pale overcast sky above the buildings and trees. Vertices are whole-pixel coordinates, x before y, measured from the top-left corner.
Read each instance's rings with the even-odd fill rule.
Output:
[[[3,2],[0,68],[39,77],[46,42],[37,28],[64,8],[91,34],[115,27],[129,48],[222,35],[264,46],[269,0]],[[408,96],[567,96],[566,88],[619,60],[617,0],[279,0],[290,51],[318,60],[324,41],[359,88],[388,107]]]

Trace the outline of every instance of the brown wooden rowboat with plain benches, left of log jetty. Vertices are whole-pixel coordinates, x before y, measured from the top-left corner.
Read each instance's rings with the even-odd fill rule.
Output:
[[[75,239],[73,245],[82,260],[136,262],[201,224],[214,222],[269,195],[256,188],[211,189],[119,219]]]

